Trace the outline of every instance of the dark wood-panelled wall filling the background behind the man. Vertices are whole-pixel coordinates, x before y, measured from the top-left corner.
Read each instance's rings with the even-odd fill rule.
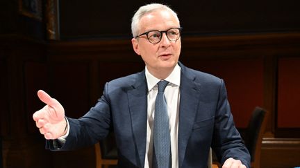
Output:
[[[255,106],[269,111],[260,166],[300,165],[300,1],[1,0],[0,167],[95,167],[94,146],[44,149],[36,93],[79,118],[105,82],[142,71],[131,17],[151,2],[178,13],[180,61],[224,79],[242,135]]]

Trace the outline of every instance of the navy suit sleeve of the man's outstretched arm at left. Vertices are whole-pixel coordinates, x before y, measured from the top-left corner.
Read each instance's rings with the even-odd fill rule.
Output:
[[[51,151],[68,151],[88,147],[105,138],[110,131],[112,119],[108,95],[108,83],[97,104],[79,119],[67,118],[69,121],[69,136],[65,144],[58,140],[47,140],[46,149]]]

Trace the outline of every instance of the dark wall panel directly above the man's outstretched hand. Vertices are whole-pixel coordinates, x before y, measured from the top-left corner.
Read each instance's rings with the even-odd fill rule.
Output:
[[[90,109],[90,65],[87,62],[51,62],[49,94],[65,108],[65,115],[80,118]]]

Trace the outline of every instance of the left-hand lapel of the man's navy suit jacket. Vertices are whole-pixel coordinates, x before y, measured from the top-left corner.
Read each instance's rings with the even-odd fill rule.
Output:
[[[137,161],[140,162],[139,167],[144,167],[147,140],[147,82],[144,71],[139,75],[133,84],[133,89],[128,91],[128,104],[131,113],[133,141],[140,158]]]

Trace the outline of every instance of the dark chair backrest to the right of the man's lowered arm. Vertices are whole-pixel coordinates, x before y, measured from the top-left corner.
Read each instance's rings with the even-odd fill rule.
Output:
[[[256,106],[251,115],[247,135],[244,139],[245,145],[251,155],[251,167],[260,167],[260,148],[268,118],[269,112],[258,106]]]

